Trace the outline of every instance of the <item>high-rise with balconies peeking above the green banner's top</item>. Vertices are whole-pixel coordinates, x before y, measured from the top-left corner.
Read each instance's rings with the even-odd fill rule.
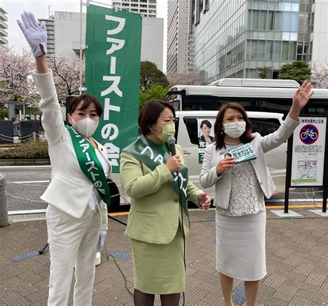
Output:
[[[138,12],[145,17],[156,17],[156,0],[113,0],[113,7]]]

